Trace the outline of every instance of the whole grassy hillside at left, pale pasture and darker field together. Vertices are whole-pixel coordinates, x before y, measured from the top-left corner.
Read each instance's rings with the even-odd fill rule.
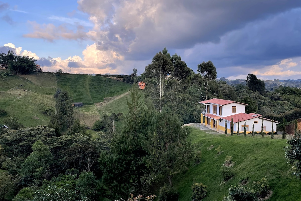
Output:
[[[50,116],[42,114],[39,105],[44,103],[54,107],[53,95],[57,88],[67,90],[75,102],[84,102],[86,107],[75,111],[77,113],[81,109],[88,111],[85,118],[80,118],[82,114],[76,115],[82,123],[87,119],[90,124],[93,124],[100,117],[96,106],[93,104],[103,102],[105,97],[126,93],[131,85],[107,77],[91,75],[56,76],[33,73],[9,76],[5,81],[0,80],[0,108],[8,112],[8,115],[0,117],[0,124],[4,118],[9,118],[13,113],[14,117],[18,117],[20,123],[25,126],[48,124]]]

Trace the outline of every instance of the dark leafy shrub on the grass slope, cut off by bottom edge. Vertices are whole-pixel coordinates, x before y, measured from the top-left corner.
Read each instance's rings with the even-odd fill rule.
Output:
[[[251,190],[245,189],[241,186],[231,186],[229,188],[229,196],[236,201],[256,201],[256,193]],[[228,199],[231,200],[231,199]]]

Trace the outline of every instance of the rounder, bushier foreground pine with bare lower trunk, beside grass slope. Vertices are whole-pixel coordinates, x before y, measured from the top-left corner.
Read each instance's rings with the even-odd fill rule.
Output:
[[[154,131],[150,132],[150,154],[148,165],[154,175],[167,177],[170,186],[171,178],[187,169],[192,156],[192,147],[187,139],[190,133],[188,127],[183,127],[176,115],[170,109],[163,109],[157,114]]]

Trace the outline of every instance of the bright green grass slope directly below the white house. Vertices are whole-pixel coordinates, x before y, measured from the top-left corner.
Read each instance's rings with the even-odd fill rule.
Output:
[[[201,182],[208,186],[207,196],[202,201],[221,201],[228,194],[231,185],[237,185],[242,178],[253,181],[265,177],[273,194],[269,201],[301,200],[301,181],[292,176],[283,147],[287,140],[271,139],[269,136],[225,136],[205,133],[194,129],[191,140],[195,151],[202,151],[200,164],[189,167],[184,173],[173,178],[173,185],[179,192],[180,201],[191,201],[191,184]],[[213,145],[214,148],[208,150]],[[222,153],[215,150],[221,146]],[[220,167],[226,156],[232,156],[235,176],[222,181]]]

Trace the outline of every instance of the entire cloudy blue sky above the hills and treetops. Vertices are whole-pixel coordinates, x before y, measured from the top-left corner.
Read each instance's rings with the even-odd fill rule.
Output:
[[[301,77],[301,1],[1,1],[0,53],[14,50],[55,71],[144,71],[167,47],[195,72],[218,77]]]

